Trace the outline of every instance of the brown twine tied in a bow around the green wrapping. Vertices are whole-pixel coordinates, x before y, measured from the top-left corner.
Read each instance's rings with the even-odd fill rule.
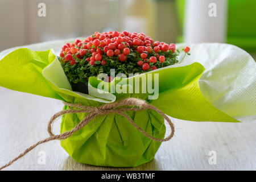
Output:
[[[174,124],[171,122],[171,119],[168,118],[167,115],[164,114],[158,108],[156,108],[150,104],[147,104],[147,102],[140,100],[138,98],[126,98],[125,100],[121,100],[121,101],[113,102],[113,103],[109,103],[109,104],[104,104],[104,105],[101,105],[98,107],[85,106],[85,105],[81,105],[81,104],[71,104],[68,102],[63,102],[63,103],[67,106],[77,107],[79,109],[62,110],[62,111],[59,111],[58,113],[54,114],[48,123],[47,130],[48,130],[48,133],[50,136],[48,138],[40,140],[39,142],[28,147],[24,152],[20,153],[16,158],[11,160],[9,163],[0,167],[0,170],[13,164],[16,160],[22,158],[24,155],[26,155],[28,152],[33,150],[39,144],[46,143],[51,140],[64,140],[64,139],[70,137],[73,133],[80,130],[82,127],[86,126],[90,121],[92,121],[93,118],[97,117],[98,115],[105,115],[105,114],[109,114],[109,113],[116,113],[116,114],[123,115],[123,117],[125,117],[131,124],[133,124],[133,126],[136,127],[141,133],[143,133],[146,137],[148,137],[152,140],[155,140],[155,141],[165,142],[165,141],[170,140],[174,136]],[[127,106],[134,106],[134,107],[127,107]],[[162,117],[164,119],[166,119],[168,124],[171,126],[171,130],[172,130],[171,134],[168,137],[166,137],[164,139],[158,139],[158,138],[152,137],[151,135],[148,135],[144,130],[141,129],[141,127],[136,125],[134,123],[134,121],[127,114],[124,113],[125,111],[139,111],[139,110],[146,110],[146,109],[155,110],[160,115],[162,115]],[[59,134],[59,135],[53,134],[52,133],[53,122],[57,118],[59,118],[61,115],[70,114],[70,113],[89,113],[89,115],[87,115],[84,119],[82,119],[82,121],[78,125],[76,125],[72,130],[66,131],[65,133]]]

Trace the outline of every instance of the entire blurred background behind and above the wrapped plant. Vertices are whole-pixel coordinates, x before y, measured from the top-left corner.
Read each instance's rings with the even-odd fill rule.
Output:
[[[166,43],[230,43],[255,57],[255,7],[255,0],[1,0],[0,51],[128,30]]]

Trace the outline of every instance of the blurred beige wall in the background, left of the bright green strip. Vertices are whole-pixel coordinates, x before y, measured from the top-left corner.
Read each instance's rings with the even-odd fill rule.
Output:
[[[38,16],[38,4],[42,2],[46,4],[46,17]],[[179,34],[174,2],[0,0],[0,51],[47,40],[88,36],[110,28],[144,32],[155,40],[174,43]]]

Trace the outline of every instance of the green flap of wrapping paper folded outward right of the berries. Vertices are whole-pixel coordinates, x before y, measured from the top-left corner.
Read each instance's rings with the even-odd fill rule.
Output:
[[[170,90],[170,88],[168,88],[168,85],[170,85],[170,84],[168,84],[168,82],[172,82],[172,81],[175,82],[176,81],[175,78],[172,80],[167,80],[166,82],[164,82],[162,84],[159,83],[161,85],[165,85],[166,88],[162,88],[162,89],[159,88],[159,97],[156,100],[147,100],[147,97],[150,94],[118,94],[117,100],[129,98],[129,97],[142,98],[144,100],[147,100],[147,102],[149,102],[151,105],[158,107],[158,109],[162,110],[164,113],[170,115],[171,117],[177,118],[177,119],[183,119],[183,120],[187,120],[187,121],[240,122],[240,121],[237,121],[236,119],[230,117],[229,115],[223,113],[222,111],[218,110],[213,105],[211,105],[205,99],[203,94],[201,93],[200,86],[199,86],[199,78],[201,77],[201,75],[204,72],[203,65],[201,65],[200,63],[192,63],[189,65],[185,65],[184,67],[196,68],[197,73],[194,73],[194,75],[193,75],[195,77],[192,80],[187,80],[186,82],[183,83],[183,85],[180,85],[178,88],[172,89],[172,91]],[[178,65],[176,64],[176,65],[173,65],[173,66],[170,66],[167,68],[161,68],[156,71],[143,73],[138,76],[125,78],[124,80],[126,80],[126,79],[134,80],[135,77],[142,77],[143,75],[147,76],[148,73],[152,73],[152,72],[159,73],[159,75],[163,75],[163,73],[165,72],[166,69],[183,69],[183,67],[178,67]],[[179,70],[176,72],[179,72]],[[172,75],[175,75],[175,73]],[[172,77],[172,75],[168,75],[166,77]],[[189,73],[188,73],[188,75],[189,75]],[[159,80],[163,80],[163,79],[159,78]],[[90,84],[92,84],[93,87],[97,88],[98,84],[100,84],[104,81],[99,80],[96,77],[90,77],[89,82],[90,82]],[[107,87],[110,88],[110,86],[113,86],[114,82],[115,82],[115,78],[112,82],[110,82],[110,83],[104,82],[104,84],[108,85]],[[127,82],[129,82],[129,81],[127,81]],[[189,90],[191,88],[193,88],[194,92],[189,92]],[[172,92],[172,94],[170,94],[170,92]],[[184,97],[181,98],[181,97],[179,97],[180,95],[184,96],[184,94],[180,94],[181,92],[184,92],[184,94],[191,94],[191,97],[187,97],[187,99],[184,99]],[[195,97],[193,97],[193,93],[195,93],[195,92],[197,93],[196,102],[193,101],[195,98]],[[175,95],[174,95],[174,93],[175,93]],[[183,100],[183,102],[177,101],[176,98]],[[188,112],[188,110],[186,110],[186,109],[188,109],[187,108],[188,102],[189,103],[193,102],[193,106],[190,107],[189,112]],[[164,105],[163,103],[168,103],[168,107],[166,105]],[[197,105],[204,105],[204,107],[196,107]],[[184,109],[184,108],[186,108],[186,109]],[[174,113],[174,110],[179,110],[179,112]],[[214,112],[212,112],[212,110],[214,110]],[[199,115],[197,115],[195,117],[195,115],[194,115],[195,113],[204,113],[204,114],[202,114],[201,117],[199,117]]]

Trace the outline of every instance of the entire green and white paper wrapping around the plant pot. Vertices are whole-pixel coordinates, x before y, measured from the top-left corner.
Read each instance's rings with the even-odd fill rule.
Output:
[[[67,40],[32,44],[1,52],[0,86],[88,106],[129,97],[147,100],[147,93],[98,94],[97,86],[101,81],[96,77],[89,78],[89,94],[73,92],[54,53],[59,53],[65,42]],[[152,71],[159,73],[159,96],[147,102],[171,117],[188,121],[255,120],[256,68],[253,58],[228,44],[189,46],[192,55],[185,57],[182,63]],[[135,80],[142,76],[150,79],[148,73],[126,79]],[[117,85],[118,81],[106,84]],[[64,109],[74,108],[64,106]],[[164,138],[164,119],[156,111],[129,111],[126,114],[153,137]],[[63,115],[61,133],[72,130],[86,115]],[[61,140],[61,146],[79,163],[135,167],[152,160],[160,142],[147,138],[126,118],[113,113],[94,118],[71,137]]]

